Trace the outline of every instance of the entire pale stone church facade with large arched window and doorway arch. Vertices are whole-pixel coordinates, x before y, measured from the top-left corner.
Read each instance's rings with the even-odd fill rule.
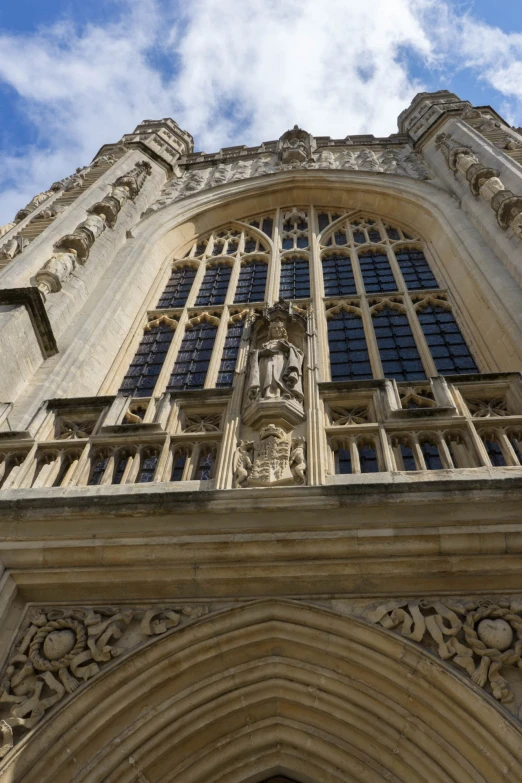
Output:
[[[0,237],[0,783],[522,781],[522,129],[145,121]]]

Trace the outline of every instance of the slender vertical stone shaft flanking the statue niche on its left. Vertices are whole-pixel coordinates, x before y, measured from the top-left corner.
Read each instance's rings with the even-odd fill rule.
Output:
[[[241,426],[241,403],[243,400],[243,391],[248,365],[252,324],[252,318],[247,316],[237,356],[236,369],[234,372],[234,383],[232,386],[232,396],[228,403],[224,417],[225,428],[223,430],[221,451],[216,468],[216,489],[230,489],[233,485],[234,458],[237,448],[237,435]]]

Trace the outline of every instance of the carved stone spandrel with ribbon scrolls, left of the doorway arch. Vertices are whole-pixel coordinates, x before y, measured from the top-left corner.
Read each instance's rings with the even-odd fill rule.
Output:
[[[201,617],[206,605],[30,610],[0,684],[0,758],[114,658]]]

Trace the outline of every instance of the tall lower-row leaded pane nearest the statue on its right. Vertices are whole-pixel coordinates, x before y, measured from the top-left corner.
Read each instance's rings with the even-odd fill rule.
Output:
[[[372,369],[361,318],[339,313],[328,321],[332,381],[371,378]]]

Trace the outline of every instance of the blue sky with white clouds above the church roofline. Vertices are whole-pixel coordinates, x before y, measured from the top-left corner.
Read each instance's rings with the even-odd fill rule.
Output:
[[[0,225],[142,119],[207,152],[386,136],[438,89],[522,125],[522,0],[4,2]]]

